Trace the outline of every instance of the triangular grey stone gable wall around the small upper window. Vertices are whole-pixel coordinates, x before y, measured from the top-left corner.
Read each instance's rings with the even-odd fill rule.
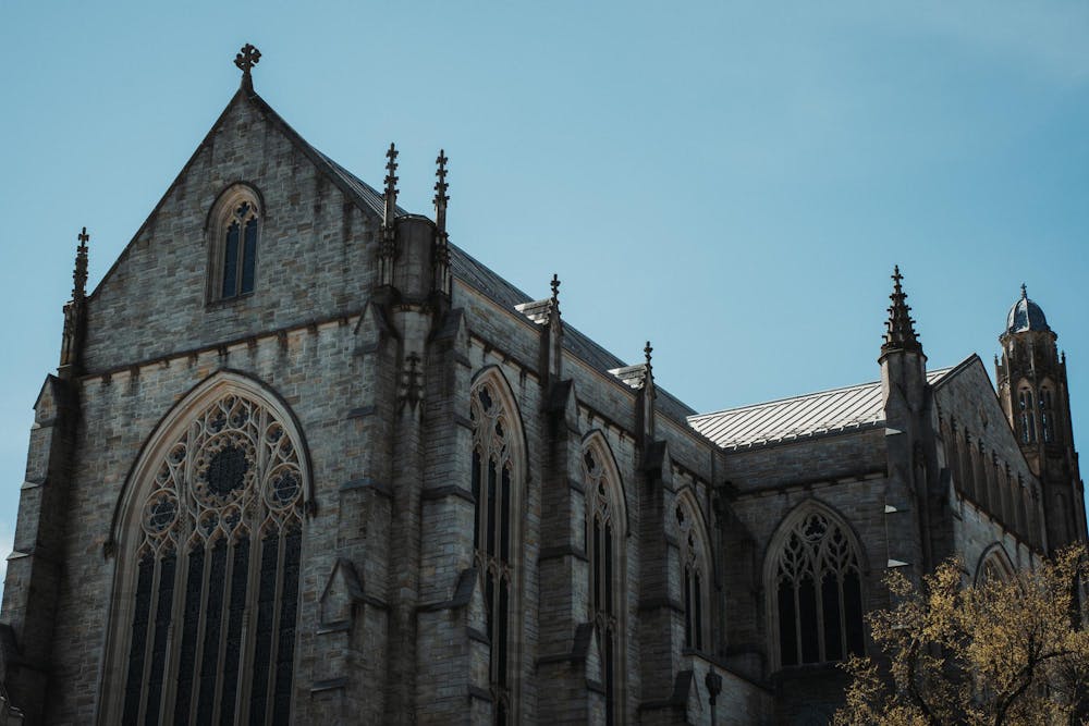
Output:
[[[209,295],[217,197],[260,197],[252,295]],[[240,90],[88,298],[87,369],[111,369],[362,309],[381,197]]]

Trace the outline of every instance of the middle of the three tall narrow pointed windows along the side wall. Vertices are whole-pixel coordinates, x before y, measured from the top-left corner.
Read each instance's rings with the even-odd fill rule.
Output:
[[[623,691],[624,562],[626,512],[608,444],[594,435],[583,450],[586,490],[586,555],[594,618],[605,690],[605,723],[621,723]]]

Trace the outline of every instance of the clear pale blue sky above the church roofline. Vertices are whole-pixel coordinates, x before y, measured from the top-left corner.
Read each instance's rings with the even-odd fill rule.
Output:
[[[75,235],[94,286],[247,41],[340,163],[397,143],[404,207],[445,148],[452,239],[697,410],[876,380],[898,263],[933,367],[991,369],[1027,283],[1089,451],[1087,38],[1085,2],[0,0],[0,546]]]

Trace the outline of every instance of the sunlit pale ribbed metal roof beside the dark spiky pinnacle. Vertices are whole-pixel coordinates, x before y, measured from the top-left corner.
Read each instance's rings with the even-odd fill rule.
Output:
[[[927,371],[927,382],[934,385],[953,370]],[[883,426],[882,404],[877,381],[692,416],[688,423],[723,448],[747,448]]]

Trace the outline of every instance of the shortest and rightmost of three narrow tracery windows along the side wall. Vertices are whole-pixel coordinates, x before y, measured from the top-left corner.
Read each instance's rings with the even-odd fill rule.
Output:
[[[673,513],[681,545],[681,598],[684,606],[685,648],[703,650],[710,645],[710,576],[707,530],[692,490],[677,496]]]

